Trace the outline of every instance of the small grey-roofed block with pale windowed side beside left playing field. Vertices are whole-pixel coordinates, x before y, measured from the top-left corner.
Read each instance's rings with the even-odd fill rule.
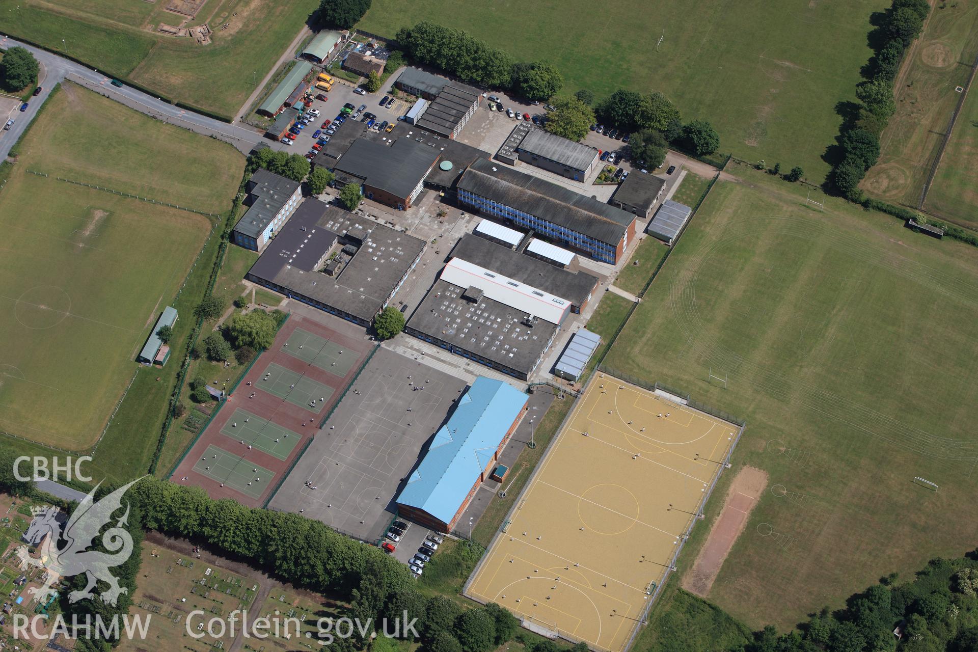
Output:
[[[245,189],[244,205],[248,208],[231,232],[231,241],[261,251],[298,206],[302,184],[259,167]]]

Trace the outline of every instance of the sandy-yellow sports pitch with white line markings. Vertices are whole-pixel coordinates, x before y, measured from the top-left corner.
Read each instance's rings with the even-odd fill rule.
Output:
[[[608,374],[589,383],[466,594],[624,650],[737,427]]]

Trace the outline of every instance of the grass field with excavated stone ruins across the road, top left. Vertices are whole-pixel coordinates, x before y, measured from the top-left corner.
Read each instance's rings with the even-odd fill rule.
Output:
[[[0,12],[0,30],[131,80],[188,106],[226,117],[254,91],[315,11],[315,0],[211,0],[188,26],[211,42],[156,31],[184,17],[167,2],[23,0]],[[225,23],[227,29],[221,29]],[[64,39],[64,42],[63,40]]]

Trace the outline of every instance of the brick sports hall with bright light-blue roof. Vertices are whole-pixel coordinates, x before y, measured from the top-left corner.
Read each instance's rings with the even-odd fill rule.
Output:
[[[512,385],[476,378],[397,497],[398,513],[424,527],[452,531],[526,406],[526,395]]]

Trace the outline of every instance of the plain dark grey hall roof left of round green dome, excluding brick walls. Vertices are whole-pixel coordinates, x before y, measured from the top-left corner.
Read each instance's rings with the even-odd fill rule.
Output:
[[[407,197],[422,182],[440,152],[403,138],[393,145],[359,138],[335,164],[335,169],[393,196]]]

